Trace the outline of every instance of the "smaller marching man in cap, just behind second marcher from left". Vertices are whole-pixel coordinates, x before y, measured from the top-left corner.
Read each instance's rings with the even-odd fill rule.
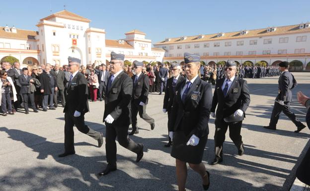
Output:
[[[150,79],[142,73],[143,63],[135,61],[134,63],[135,75],[133,75],[133,93],[131,99],[131,113],[132,113],[132,131],[129,135],[138,134],[139,129],[137,127],[137,115],[139,112],[140,118],[151,125],[151,129],[155,128],[155,120],[151,118],[147,113],[148,96],[150,92]]]

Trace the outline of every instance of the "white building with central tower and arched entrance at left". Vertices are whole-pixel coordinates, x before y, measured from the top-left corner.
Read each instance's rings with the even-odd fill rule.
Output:
[[[97,65],[106,63],[111,51],[125,54],[130,62],[161,61],[164,56],[164,50],[152,50],[151,40],[145,39],[143,32],[134,30],[126,33],[126,39],[106,40],[105,30],[89,27],[89,23],[89,19],[63,10],[40,19],[38,31],[0,27],[0,60],[11,56],[24,66],[63,65],[68,64],[71,56],[79,58],[83,65]],[[141,42],[147,47],[139,47]]]

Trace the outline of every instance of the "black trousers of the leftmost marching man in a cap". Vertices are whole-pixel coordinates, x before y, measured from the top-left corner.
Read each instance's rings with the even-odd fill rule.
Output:
[[[87,133],[89,127],[85,125],[84,114],[81,113],[79,117],[74,117],[74,113],[65,113],[65,152],[74,152],[74,130],[73,126],[76,125],[78,130],[82,133]]]

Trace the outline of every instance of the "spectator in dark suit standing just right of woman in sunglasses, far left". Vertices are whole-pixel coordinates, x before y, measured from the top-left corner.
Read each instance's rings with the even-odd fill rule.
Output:
[[[31,76],[28,75],[28,69],[24,67],[22,69],[22,75],[18,76],[18,82],[21,85],[20,87],[20,95],[23,98],[24,108],[25,108],[25,114],[29,114],[29,108],[28,108],[28,101],[30,100],[31,108],[33,109],[33,112],[37,113],[38,110],[35,107],[34,104],[34,93],[29,91],[30,83],[34,83],[33,79],[31,79]]]

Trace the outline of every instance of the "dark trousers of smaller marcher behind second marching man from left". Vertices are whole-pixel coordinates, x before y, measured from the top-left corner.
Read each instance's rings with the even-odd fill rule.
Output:
[[[149,124],[154,123],[154,119],[146,114],[147,105],[141,106],[137,105],[134,102],[131,103],[131,119],[133,129],[137,129],[137,115],[139,113],[140,118],[146,121]]]

